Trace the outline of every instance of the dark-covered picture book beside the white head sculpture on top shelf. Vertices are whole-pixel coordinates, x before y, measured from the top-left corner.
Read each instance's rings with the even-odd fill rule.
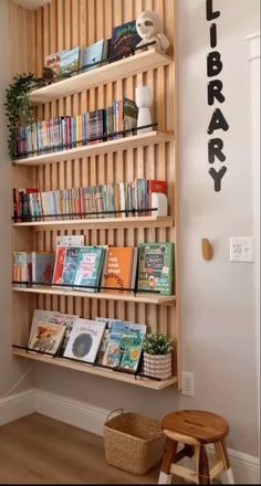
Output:
[[[117,25],[112,31],[111,55],[115,57],[128,55],[140,41],[135,20]]]

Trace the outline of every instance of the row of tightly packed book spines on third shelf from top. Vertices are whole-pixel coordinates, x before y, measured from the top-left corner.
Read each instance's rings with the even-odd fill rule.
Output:
[[[167,196],[167,181],[135,179],[83,188],[39,191],[36,188],[13,189],[14,221],[41,221],[61,216],[124,218],[152,215],[152,194]],[[45,218],[44,218],[45,216]]]

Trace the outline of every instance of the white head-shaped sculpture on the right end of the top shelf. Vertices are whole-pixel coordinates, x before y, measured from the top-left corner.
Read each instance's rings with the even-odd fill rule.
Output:
[[[152,47],[156,46],[161,52],[167,51],[169,41],[166,35],[161,33],[161,20],[156,12],[146,10],[139,13],[136,20],[136,29],[138,35],[142,38],[142,41],[136,45],[136,47],[140,47],[144,44],[155,41],[156,44],[152,45]],[[136,52],[138,53],[139,51],[140,50]]]

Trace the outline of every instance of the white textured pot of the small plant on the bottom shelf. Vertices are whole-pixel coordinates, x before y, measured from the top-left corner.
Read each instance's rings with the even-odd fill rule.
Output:
[[[173,355],[148,355],[144,352],[144,373],[167,380],[173,374]]]

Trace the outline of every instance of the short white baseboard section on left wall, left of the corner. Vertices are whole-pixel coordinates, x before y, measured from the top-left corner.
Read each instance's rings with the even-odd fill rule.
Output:
[[[21,416],[34,412],[34,390],[30,389],[20,393],[0,399],[0,425],[13,422]]]

